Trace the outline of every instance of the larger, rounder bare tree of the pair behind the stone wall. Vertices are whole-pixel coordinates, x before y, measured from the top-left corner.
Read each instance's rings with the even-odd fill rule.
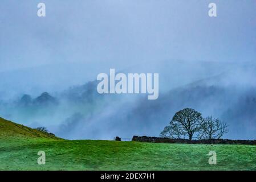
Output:
[[[170,121],[170,125],[165,127],[160,136],[168,138],[181,138],[183,136],[192,140],[194,133],[201,129],[204,120],[201,115],[198,111],[190,108],[178,111]]]

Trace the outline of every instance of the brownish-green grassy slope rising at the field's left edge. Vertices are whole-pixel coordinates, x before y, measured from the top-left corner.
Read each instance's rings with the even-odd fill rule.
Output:
[[[6,138],[45,138],[60,139],[52,134],[44,133],[36,129],[31,129],[17,123],[0,118],[0,139]]]

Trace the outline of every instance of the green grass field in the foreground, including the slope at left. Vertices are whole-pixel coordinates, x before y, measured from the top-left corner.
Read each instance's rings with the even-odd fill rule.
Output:
[[[256,146],[63,140],[0,118],[0,170],[256,170]]]

